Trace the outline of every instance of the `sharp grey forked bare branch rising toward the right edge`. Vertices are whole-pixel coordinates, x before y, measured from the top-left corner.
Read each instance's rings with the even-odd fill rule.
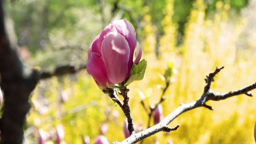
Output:
[[[210,84],[213,81],[213,78],[218,72],[220,72],[221,69],[224,67],[217,67],[214,72],[211,72],[208,76],[206,76],[205,81],[206,85],[204,87],[204,93],[202,94],[201,98],[199,98],[195,102],[191,102],[188,104],[180,104],[178,108],[176,108],[173,112],[171,112],[168,116],[166,116],[160,123],[143,130],[142,132],[138,132],[136,134],[131,135],[130,137],[126,138],[122,142],[113,142],[112,144],[134,144],[136,142],[139,142],[143,140],[144,138],[147,138],[149,136],[152,136],[153,134],[156,134],[157,132],[161,131],[167,131],[167,130],[176,130],[179,125],[177,125],[175,128],[170,128],[167,126],[172,122],[175,118],[180,116],[180,114],[198,108],[198,107],[206,107],[210,110],[213,110],[211,106],[206,105],[206,102],[208,100],[225,100],[226,98],[230,98],[232,96],[237,96],[240,94],[246,94],[247,96],[252,96],[252,94],[248,93],[249,91],[256,89],[256,83],[251,84],[249,86],[246,86],[244,88],[241,88],[239,90],[234,90],[226,93],[214,93],[210,89]]]

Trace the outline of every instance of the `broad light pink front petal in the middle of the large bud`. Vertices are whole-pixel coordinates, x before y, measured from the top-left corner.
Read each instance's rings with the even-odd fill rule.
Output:
[[[102,42],[101,52],[109,80],[114,84],[126,80],[130,48],[124,36],[112,32],[108,34]]]

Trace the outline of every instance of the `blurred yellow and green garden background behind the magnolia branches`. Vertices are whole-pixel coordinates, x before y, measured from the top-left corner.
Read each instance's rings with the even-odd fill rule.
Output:
[[[167,63],[172,84],[162,102],[167,116],[180,103],[197,100],[204,77],[225,68],[212,82],[214,92],[236,90],[256,82],[256,0],[11,0],[18,53],[26,65],[52,70],[87,61],[92,40],[114,19],[127,18],[148,61],[144,79],[128,86],[137,130],[148,127],[147,108],[160,100]],[[252,91],[256,95],[256,91]],[[41,80],[31,97],[24,127],[27,144],[94,143],[124,140],[120,107],[96,86],[83,69]],[[176,118],[144,144],[253,144],[256,99],[246,95],[196,108]],[[150,120],[150,126],[154,121]]]

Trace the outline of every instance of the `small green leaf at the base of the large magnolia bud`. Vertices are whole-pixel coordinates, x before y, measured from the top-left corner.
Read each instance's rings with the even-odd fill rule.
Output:
[[[128,86],[135,80],[142,80],[146,71],[147,61],[143,59],[137,65],[132,66],[132,72],[130,78],[124,83],[124,86]]]

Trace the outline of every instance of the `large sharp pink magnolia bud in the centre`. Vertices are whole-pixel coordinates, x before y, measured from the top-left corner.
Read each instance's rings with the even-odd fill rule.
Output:
[[[135,60],[133,60],[134,50]],[[142,55],[139,42],[136,46],[135,30],[125,19],[114,20],[93,40],[88,50],[87,72],[92,75],[100,89],[124,82],[133,64]]]

